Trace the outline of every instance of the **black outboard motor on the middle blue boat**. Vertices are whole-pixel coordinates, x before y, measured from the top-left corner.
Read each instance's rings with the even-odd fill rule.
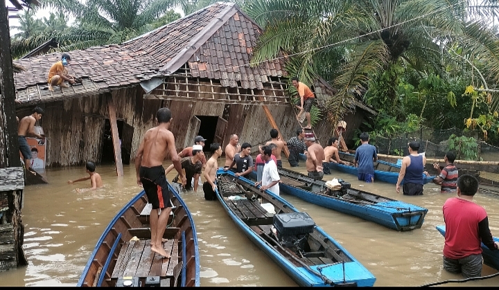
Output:
[[[295,252],[304,251],[306,235],[313,233],[315,222],[306,212],[288,212],[274,215],[274,228],[277,230],[277,242]]]

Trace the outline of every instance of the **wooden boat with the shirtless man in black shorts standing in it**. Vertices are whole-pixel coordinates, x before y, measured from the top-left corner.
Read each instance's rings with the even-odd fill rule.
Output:
[[[163,235],[170,259],[150,248],[150,211],[142,190],[112,219],[98,239],[78,287],[88,286],[200,286],[200,257],[191,212],[168,184],[173,204]]]

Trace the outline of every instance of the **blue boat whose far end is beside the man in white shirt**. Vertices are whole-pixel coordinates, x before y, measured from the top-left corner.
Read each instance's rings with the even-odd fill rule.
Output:
[[[299,172],[279,168],[279,188],[299,199],[348,215],[355,215],[394,230],[421,228],[428,209],[390,199],[371,192],[349,188],[329,188],[326,181],[312,179]]]

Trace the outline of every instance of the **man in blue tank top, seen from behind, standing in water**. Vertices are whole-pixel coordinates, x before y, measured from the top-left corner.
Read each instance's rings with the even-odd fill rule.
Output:
[[[423,175],[426,156],[418,153],[419,142],[409,143],[409,155],[402,159],[402,167],[399,172],[399,179],[396,183],[396,192],[400,192],[400,185],[403,184],[404,195],[423,195]]]

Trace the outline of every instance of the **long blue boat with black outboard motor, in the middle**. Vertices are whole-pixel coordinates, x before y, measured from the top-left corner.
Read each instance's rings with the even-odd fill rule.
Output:
[[[374,285],[374,275],[306,212],[230,171],[218,170],[217,183],[229,217],[300,286]]]

